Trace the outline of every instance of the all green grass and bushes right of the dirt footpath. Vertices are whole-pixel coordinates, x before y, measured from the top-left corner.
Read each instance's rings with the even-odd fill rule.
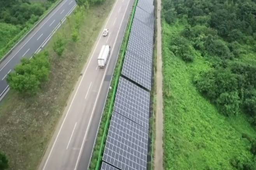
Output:
[[[256,3],[164,0],[163,18],[165,168],[256,169]]]

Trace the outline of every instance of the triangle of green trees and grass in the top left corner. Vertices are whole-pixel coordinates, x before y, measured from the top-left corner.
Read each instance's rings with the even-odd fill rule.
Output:
[[[56,0],[0,0],[0,56],[4,55],[54,2]]]

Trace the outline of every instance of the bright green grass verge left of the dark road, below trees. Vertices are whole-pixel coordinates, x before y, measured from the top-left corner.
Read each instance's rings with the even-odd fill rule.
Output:
[[[41,2],[42,0],[31,0],[31,2]],[[56,0],[44,14],[40,16],[35,23],[27,22],[26,26],[20,30],[20,26],[15,26],[7,23],[0,23],[0,59],[2,59],[12,47],[19,42],[41,19],[47,16],[47,14],[53,10],[62,0]]]

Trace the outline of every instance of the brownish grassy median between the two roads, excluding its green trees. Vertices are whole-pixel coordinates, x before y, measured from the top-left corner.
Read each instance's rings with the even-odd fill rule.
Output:
[[[114,0],[91,6],[81,21],[79,41],[71,40],[74,19],[68,20],[46,47],[51,60],[51,75],[35,97],[22,98],[10,91],[0,103],[0,150],[13,170],[35,170],[51,138],[67,99],[80,75]],[[58,57],[53,43],[58,34],[67,40],[65,51]]]

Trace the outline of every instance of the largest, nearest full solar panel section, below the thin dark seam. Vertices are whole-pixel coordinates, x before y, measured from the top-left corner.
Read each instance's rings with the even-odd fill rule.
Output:
[[[146,170],[148,130],[115,111],[103,161],[121,170]]]

